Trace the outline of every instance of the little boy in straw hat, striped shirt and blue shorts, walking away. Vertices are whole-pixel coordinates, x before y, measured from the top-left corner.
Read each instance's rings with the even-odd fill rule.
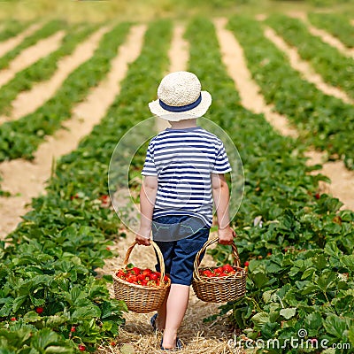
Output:
[[[201,91],[194,73],[170,73],[158,87],[150,111],[171,127],[151,139],[140,192],[141,225],[135,237],[149,245],[150,233],[164,256],[171,289],[151,318],[164,330],[161,349],[181,349],[177,331],[189,303],[196,253],[208,240],[212,204],[218,217],[219,243],[232,244],[235,231],[228,215],[229,191],[224,173],[231,171],[223,143],[202,127],[212,96]],[[159,265],[157,265],[159,270]]]

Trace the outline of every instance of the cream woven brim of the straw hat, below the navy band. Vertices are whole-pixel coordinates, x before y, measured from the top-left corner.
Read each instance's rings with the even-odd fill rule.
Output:
[[[159,100],[150,102],[150,112],[159,118],[171,121],[178,121],[183,119],[193,119],[203,117],[212,104],[212,95],[208,91],[202,91],[202,101],[195,108],[186,112],[170,112],[166,111],[159,104]]]

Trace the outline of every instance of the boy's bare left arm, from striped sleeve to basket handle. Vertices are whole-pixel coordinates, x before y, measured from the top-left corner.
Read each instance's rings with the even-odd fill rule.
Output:
[[[145,176],[140,189],[140,228],[135,241],[145,246],[150,245],[152,213],[158,193],[158,176]]]

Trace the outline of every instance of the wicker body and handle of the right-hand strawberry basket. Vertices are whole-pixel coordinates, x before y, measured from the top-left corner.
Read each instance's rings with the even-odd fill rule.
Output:
[[[237,300],[244,296],[246,293],[246,277],[247,271],[240,266],[240,258],[238,256],[237,247],[235,243],[232,244],[233,255],[235,258],[234,270],[235,274],[207,278],[201,276],[206,269],[215,269],[216,267],[204,267],[199,268],[200,255],[208,246],[214,242],[218,242],[219,238],[214,238],[204,243],[202,250],[196,254],[196,260],[194,262],[194,273],[192,287],[196,293],[196,297],[207,303],[224,303],[227,301]]]

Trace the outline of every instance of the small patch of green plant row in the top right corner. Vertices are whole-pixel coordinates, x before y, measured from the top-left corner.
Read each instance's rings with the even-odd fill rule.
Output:
[[[354,27],[348,17],[339,13],[310,12],[308,19],[312,25],[334,35],[348,48],[354,48]]]

